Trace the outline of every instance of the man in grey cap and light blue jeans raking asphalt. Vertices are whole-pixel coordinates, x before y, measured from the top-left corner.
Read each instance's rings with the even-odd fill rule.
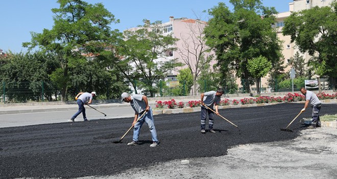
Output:
[[[150,147],[157,147],[159,145],[159,141],[157,139],[157,131],[154,125],[152,108],[149,106],[148,98],[143,95],[132,95],[131,96],[128,93],[123,93],[121,96],[122,96],[122,101],[130,103],[131,107],[135,111],[135,117],[132,123],[132,125],[134,125],[133,141],[128,143],[128,146],[138,145],[138,137],[139,137],[140,128],[143,125],[143,123],[146,122],[150,128],[152,141],[153,141]],[[137,122],[138,116],[142,115],[143,113],[146,113],[146,114],[141,119],[139,119]]]

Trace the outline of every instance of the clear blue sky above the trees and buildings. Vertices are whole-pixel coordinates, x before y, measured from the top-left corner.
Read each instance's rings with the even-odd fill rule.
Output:
[[[170,1],[123,1],[123,0],[85,0],[87,3],[102,3],[104,7],[120,20],[119,24],[112,24],[112,29],[123,31],[142,24],[143,19],[151,21],[161,20],[163,23],[170,16],[175,18],[199,18],[207,20],[202,13],[219,2],[232,7],[229,0],[170,0]],[[293,0],[261,0],[264,6],[275,7],[278,12],[289,10],[289,3]],[[52,29],[52,8],[59,8],[56,0],[10,0],[0,3],[0,49],[18,53],[26,52],[22,42],[31,41],[30,32],[41,33],[43,29]]]

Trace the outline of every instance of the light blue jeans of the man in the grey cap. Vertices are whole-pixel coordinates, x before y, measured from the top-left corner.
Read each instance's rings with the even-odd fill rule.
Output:
[[[157,131],[156,131],[156,127],[154,126],[154,120],[153,120],[153,115],[152,115],[152,108],[150,107],[150,110],[144,113],[146,114],[141,119],[139,119],[138,122],[136,122],[133,128],[133,141],[138,142],[140,128],[144,124],[144,122],[146,122],[150,128],[152,141],[158,142]],[[140,117],[140,114],[138,114],[138,116]]]

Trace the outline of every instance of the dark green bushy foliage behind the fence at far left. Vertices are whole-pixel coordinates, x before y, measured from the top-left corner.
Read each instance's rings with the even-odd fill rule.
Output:
[[[51,101],[57,96],[57,88],[51,83],[49,75],[59,67],[51,54],[42,52],[9,54],[0,66],[0,78],[5,82],[6,97],[12,102],[39,101],[44,98]]]

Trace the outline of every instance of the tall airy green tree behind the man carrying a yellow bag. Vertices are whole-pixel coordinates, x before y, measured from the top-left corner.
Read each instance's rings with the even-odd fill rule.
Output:
[[[57,56],[60,68],[52,74],[52,79],[62,88],[61,100],[65,100],[69,70],[87,60],[82,53],[104,51],[116,37],[116,31],[110,30],[110,24],[119,20],[101,3],[91,5],[81,0],[58,0],[57,3],[60,7],[52,9],[55,13],[53,28],[43,29],[42,33],[31,32],[31,42],[22,45],[29,49],[39,47]]]

